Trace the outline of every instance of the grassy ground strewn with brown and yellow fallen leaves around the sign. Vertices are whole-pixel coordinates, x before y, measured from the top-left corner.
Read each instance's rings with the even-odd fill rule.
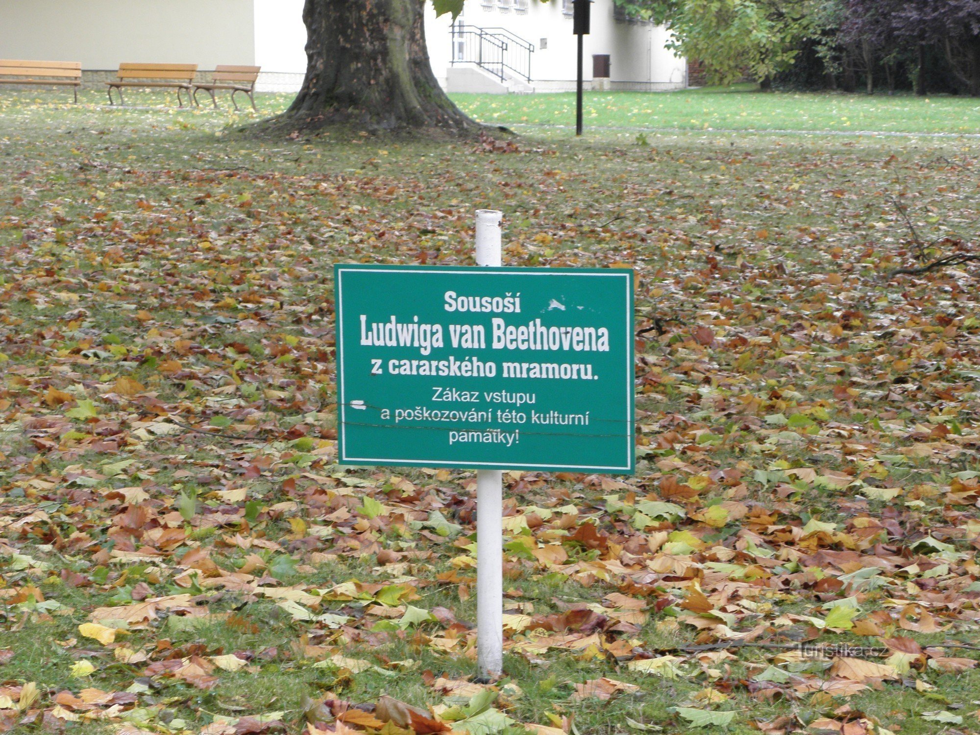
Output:
[[[980,729],[980,264],[888,275],[976,252],[974,140],[270,141],[8,94],[0,730]],[[473,474],[333,464],[330,281],[469,264],[483,207],[507,265],[636,269],[640,330],[637,474],[506,475],[489,685]]]

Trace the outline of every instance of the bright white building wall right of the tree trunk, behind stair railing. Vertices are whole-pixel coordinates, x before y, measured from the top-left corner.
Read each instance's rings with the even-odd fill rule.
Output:
[[[466,0],[460,20],[466,25],[505,27],[534,44],[531,86],[538,91],[571,89],[575,80],[576,38],[571,32],[570,2],[529,0],[525,12],[517,12],[515,0]],[[452,43],[448,15],[435,17],[426,7],[425,35],[436,78],[445,83]],[[592,5],[591,32],[584,39],[583,77],[592,79],[593,54],[611,57],[611,87],[658,89],[683,87],[686,64],[664,44],[668,33],[662,26],[625,23],[613,18],[613,0]]]

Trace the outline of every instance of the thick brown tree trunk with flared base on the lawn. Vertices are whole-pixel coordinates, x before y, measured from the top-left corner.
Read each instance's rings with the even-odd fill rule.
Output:
[[[298,127],[475,126],[435,80],[424,0],[306,0],[307,73],[283,118]]]

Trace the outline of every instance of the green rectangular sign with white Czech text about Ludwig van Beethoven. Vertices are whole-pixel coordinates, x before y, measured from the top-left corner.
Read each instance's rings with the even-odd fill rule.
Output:
[[[341,464],[633,472],[632,270],[334,278]]]

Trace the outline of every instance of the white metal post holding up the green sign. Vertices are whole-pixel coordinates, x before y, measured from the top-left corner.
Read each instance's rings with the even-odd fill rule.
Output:
[[[500,266],[496,210],[476,211],[476,265]],[[476,665],[495,679],[504,670],[504,473],[476,472]]]

